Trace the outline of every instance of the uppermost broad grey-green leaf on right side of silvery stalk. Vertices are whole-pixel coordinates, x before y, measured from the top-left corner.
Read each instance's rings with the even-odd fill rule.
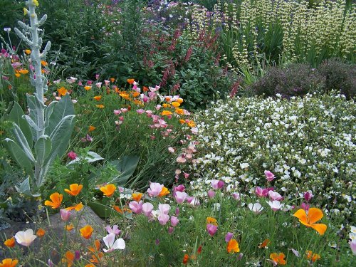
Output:
[[[56,103],[52,110],[51,117],[49,118],[48,127],[46,127],[46,135],[52,135],[57,125],[64,117],[74,115],[74,105],[69,95],[65,95],[61,100]],[[48,120],[48,117],[47,117]]]

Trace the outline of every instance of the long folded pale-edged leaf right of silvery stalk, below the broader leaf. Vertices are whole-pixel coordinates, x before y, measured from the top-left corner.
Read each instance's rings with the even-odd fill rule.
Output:
[[[56,159],[56,157],[62,157],[64,152],[66,152],[70,140],[70,135],[74,127],[74,117],[75,115],[68,115],[63,117],[61,122],[59,122],[59,124],[50,135],[52,149],[45,162],[43,163],[38,180],[36,181],[38,187],[41,186],[41,184],[44,182],[44,178],[46,177],[48,169],[51,167],[53,160]]]

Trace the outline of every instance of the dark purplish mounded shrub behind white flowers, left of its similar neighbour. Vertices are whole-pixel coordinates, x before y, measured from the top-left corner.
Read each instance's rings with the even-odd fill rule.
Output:
[[[307,63],[292,63],[286,68],[273,67],[248,87],[256,95],[273,96],[279,93],[286,97],[322,92],[324,88],[325,77]]]

